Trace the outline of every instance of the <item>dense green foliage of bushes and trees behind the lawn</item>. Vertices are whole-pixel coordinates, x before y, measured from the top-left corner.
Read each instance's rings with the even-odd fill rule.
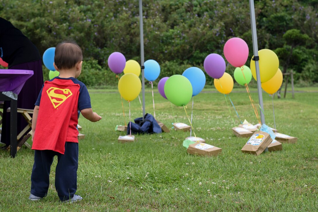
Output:
[[[312,70],[318,53],[317,11],[312,0],[255,1],[259,49],[275,50],[284,65],[293,48],[288,68],[300,75],[308,71],[308,64]],[[112,74],[107,67],[110,53],[119,51],[127,60],[140,62],[137,0],[0,0],[0,16],[21,29],[41,54],[63,39],[75,39],[84,60],[96,60],[100,67],[88,62],[87,68],[95,64],[92,69],[103,72],[99,77],[104,76],[105,83],[115,84],[107,80]],[[160,77],[181,74],[184,66],[202,67],[210,53],[224,56],[223,46],[232,37],[248,44],[248,62],[253,55],[248,1],[144,0],[143,20],[145,60],[162,64]],[[174,64],[177,70],[164,64]],[[231,74],[234,67],[227,70]]]

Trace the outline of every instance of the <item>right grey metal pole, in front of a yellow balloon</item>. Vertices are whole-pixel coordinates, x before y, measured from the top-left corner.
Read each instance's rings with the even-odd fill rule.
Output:
[[[265,117],[263,113],[263,110],[264,110],[263,95],[262,95],[262,87],[261,87],[260,75],[259,75],[259,56],[258,56],[257,35],[256,35],[254,0],[249,0],[249,2],[250,2],[250,15],[251,15],[251,27],[252,27],[253,53],[254,53],[253,60],[255,61],[257,91],[259,95],[259,105],[261,107],[260,120],[261,120],[261,124],[265,124]]]

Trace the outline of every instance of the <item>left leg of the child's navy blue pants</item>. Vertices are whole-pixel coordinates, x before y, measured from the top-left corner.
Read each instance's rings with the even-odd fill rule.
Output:
[[[31,194],[45,197],[50,184],[50,171],[56,152],[51,150],[35,150],[34,165],[31,174]]]

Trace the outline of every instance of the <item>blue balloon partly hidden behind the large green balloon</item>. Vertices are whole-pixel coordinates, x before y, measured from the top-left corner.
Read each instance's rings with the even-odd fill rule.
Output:
[[[200,68],[190,67],[187,68],[182,76],[185,76],[192,86],[192,96],[198,95],[205,85],[205,75]]]

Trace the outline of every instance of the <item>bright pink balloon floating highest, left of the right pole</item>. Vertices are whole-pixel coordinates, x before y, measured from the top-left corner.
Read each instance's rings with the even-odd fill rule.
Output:
[[[226,41],[223,53],[232,66],[241,67],[248,58],[248,46],[243,39],[231,38]]]

